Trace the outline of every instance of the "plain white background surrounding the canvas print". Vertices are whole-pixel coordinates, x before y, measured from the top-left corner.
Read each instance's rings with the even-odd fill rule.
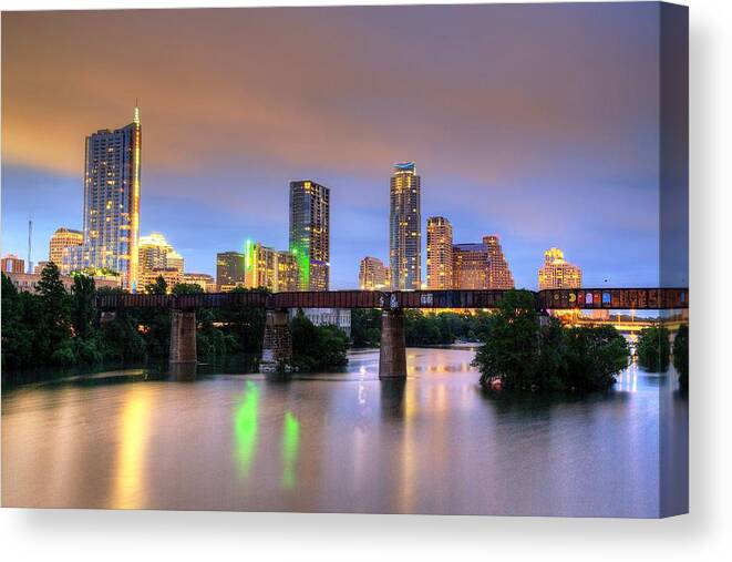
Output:
[[[2,10],[278,3],[349,2],[0,0]],[[732,2],[681,3],[691,18],[691,514],[636,521],[3,509],[0,559],[729,560]]]

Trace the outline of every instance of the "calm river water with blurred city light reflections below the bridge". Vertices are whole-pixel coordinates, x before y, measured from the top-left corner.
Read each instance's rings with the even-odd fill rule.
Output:
[[[685,448],[676,375],[631,366],[607,395],[496,400],[472,359],[410,349],[405,385],[361,351],[288,382],[137,369],[19,387],[2,397],[2,503],[658,515],[659,410],[679,436],[664,456]]]

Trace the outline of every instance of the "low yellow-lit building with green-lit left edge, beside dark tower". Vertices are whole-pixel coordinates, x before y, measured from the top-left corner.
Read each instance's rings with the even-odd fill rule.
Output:
[[[290,252],[279,252],[247,241],[245,285],[272,293],[298,290],[298,263]]]

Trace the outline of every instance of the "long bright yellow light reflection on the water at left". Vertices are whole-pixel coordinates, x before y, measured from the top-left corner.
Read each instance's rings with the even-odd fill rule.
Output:
[[[113,509],[140,509],[144,507],[145,454],[150,439],[151,396],[143,385],[132,385],[122,408]]]

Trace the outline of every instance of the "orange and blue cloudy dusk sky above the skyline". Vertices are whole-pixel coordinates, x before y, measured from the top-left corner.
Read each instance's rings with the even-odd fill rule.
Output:
[[[81,228],[84,137],[143,127],[141,235],[186,270],[286,249],[288,184],[331,190],[331,288],[388,258],[414,161],[454,242],[498,234],[516,285],[557,246],[585,286],[659,283],[654,3],[16,12],[2,18],[2,252]],[[426,254],[423,251],[423,280]]]

